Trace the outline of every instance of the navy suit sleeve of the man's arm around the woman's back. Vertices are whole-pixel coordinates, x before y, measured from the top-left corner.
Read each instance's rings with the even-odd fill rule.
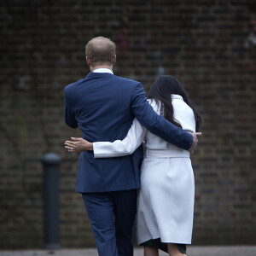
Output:
[[[164,117],[154,112],[148,104],[147,96],[143,90],[143,84],[137,83],[131,96],[131,109],[137,120],[167,143],[172,143],[178,148],[189,149],[193,143],[193,137],[189,132],[183,131],[176,125],[167,121]]]

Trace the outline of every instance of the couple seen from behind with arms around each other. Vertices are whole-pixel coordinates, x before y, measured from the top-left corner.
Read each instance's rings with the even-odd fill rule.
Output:
[[[159,248],[186,255],[195,195],[189,154],[201,135],[195,132],[201,116],[172,76],[156,79],[148,98],[141,83],[115,76],[110,39],[92,38],[85,49],[90,73],[64,90],[65,121],[82,138],[65,148],[80,152],[76,192],[97,251],[133,255],[135,227],[144,255],[158,255]]]

